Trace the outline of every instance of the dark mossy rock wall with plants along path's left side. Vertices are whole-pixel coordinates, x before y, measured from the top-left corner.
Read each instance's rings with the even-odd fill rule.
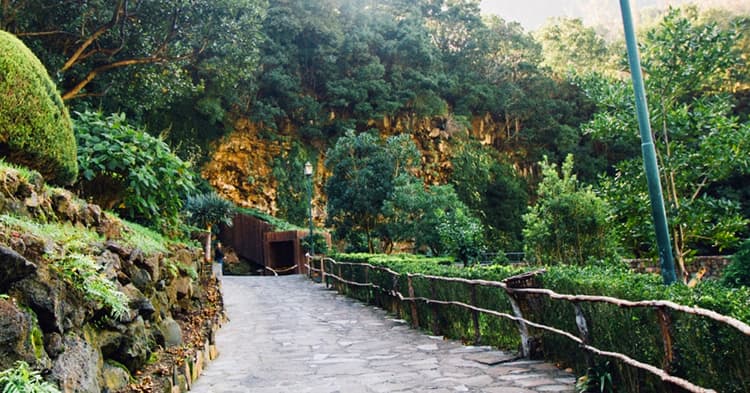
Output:
[[[98,206],[0,169],[0,370],[23,360],[63,392],[118,391],[157,349],[181,345],[179,325],[201,294],[200,250],[139,242]],[[76,258],[94,269],[61,267]],[[124,310],[93,282],[111,283]]]

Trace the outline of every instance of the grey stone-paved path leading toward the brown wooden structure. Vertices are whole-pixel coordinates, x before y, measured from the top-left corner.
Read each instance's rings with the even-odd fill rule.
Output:
[[[574,392],[551,364],[428,336],[303,276],[224,277],[223,292],[194,393]]]

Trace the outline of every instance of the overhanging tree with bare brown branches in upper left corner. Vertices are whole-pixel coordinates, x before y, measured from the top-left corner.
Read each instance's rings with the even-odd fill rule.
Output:
[[[254,65],[264,1],[20,0],[0,28],[58,75],[64,100],[107,96],[122,110],[169,102],[207,74],[232,86]]]

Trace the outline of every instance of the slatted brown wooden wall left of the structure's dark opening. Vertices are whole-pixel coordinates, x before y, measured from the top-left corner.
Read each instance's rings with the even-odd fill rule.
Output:
[[[271,224],[247,214],[234,216],[233,225],[222,225],[219,239],[232,247],[238,256],[259,265],[266,261],[264,234],[271,232]]]

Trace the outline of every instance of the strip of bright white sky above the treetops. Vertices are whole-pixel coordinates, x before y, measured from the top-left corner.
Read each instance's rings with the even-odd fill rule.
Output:
[[[665,9],[695,0],[630,0],[633,14],[646,8]],[[731,7],[750,11],[750,0],[702,0],[701,6]],[[555,16],[580,17],[587,25],[621,24],[619,0],[482,0],[482,12],[496,14],[505,20],[517,21],[526,30],[543,26],[547,18]],[[619,27],[619,25],[618,25]]]

